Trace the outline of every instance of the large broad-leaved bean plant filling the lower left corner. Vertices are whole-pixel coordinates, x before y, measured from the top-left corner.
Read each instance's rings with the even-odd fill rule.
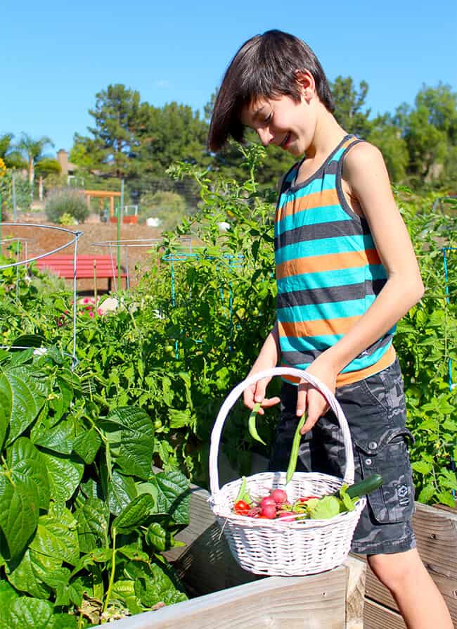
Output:
[[[80,628],[186,598],[160,553],[188,523],[188,481],[153,471],[146,412],[101,414],[86,384],[56,348],[0,352],[4,626]]]

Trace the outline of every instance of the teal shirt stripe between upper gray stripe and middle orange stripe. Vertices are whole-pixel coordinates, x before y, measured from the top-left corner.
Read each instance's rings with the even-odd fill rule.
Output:
[[[337,236],[336,238],[322,238],[318,240],[302,241],[277,249],[275,252],[276,265],[295,258],[309,258],[311,255],[328,255],[330,253],[349,253],[374,248],[370,234],[360,236]]]

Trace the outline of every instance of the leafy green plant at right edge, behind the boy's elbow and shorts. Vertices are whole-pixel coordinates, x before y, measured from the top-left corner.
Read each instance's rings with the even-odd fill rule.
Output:
[[[450,276],[446,294],[442,246],[457,245],[457,223],[455,216],[432,210],[435,197],[417,199],[408,191],[397,192],[425,295],[399,322],[394,344],[404,375],[408,428],[416,440],[411,461],[418,500],[454,507],[457,411],[449,360],[457,359],[457,274]]]

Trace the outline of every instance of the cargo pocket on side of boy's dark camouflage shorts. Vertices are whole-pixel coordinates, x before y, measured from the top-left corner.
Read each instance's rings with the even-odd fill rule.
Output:
[[[389,524],[406,521],[414,512],[414,486],[406,439],[413,436],[407,428],[384,433],[378,442],[356,441],[361,477],[382,476],[379,489],[367,495],[375,521]]]

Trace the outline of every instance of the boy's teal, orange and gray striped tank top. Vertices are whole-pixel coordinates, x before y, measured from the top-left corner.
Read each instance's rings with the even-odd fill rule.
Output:
[[[361,141],[346,136],[300,184],[295,185],[295,177],[302,162],[283,178],[274,231],[283,366],[306,369],[354,326],[387,281],[368,222],[352,211],[342,191],[345,153]],[[337,386],[392,364],[394,331],[395,327],[347,364],[337,376]]]

